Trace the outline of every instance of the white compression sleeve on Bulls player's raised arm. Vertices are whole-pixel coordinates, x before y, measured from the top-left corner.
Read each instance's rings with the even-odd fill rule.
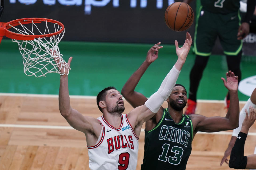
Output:
[[[151,112],[157,113],[163,102],[170,96],[180,72],[181,71],[173,66],[171,71],[166,75],[158,91],[151,95],[146,101],[145,105]]]

